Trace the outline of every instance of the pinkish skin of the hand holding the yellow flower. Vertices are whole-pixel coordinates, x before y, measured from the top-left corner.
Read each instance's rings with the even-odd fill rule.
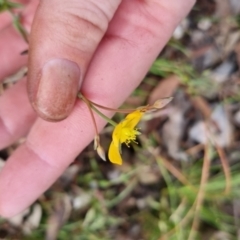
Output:
[[[26,4],[22,22],[31,30],[29,57],[19,55],[28,46],[12,27],[9,16],[0,15],[0,79],[27,62],[29,66],[27,81],[22,79],[0,98],[1,149],[27,135],[0,173],[0,215],[4,217],[33,203],[92,141],[90,114],[84,103],[72,97],[76,94],[73,89],[81,88],[92,101],[118,108],[138,86],[195,3],[22,2]],[[60,64],[48,71],[46,64],[52,59]],[[61,79],[64,74],[69,81]],[[67,93],[63,96],[64,89]],[[55,100],[57,111],[51,108]],[[61,119],[64,120],[58,121]],[[102,129],[105,122],[98,116],[96,121]]]

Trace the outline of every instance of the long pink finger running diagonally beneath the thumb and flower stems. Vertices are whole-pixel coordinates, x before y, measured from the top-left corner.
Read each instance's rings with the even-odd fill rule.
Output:
[[[96,102],[119,106],[139,84],[156,52],[163,48],[193,3],[123,1],[91,62],[83,92]],[[102,128],[104,121],[96,119]],[[23,210],[56,180],[93,138],[90,121],[86,106],[78,101],[64,121],[36,122],[26,143],[10,157],[0,174],[3,216]]]

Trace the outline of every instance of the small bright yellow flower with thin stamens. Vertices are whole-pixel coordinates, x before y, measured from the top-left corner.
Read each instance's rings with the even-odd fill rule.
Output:
[[[126,116],[114,129],[112,134],[112,142],[109,148],[108,157],[112,163],[122,164],[121,144],[126,143],[129,146],[130,142],[136,142],[136,135],[140,132],[135,128],[144,112],[136,110]]]

